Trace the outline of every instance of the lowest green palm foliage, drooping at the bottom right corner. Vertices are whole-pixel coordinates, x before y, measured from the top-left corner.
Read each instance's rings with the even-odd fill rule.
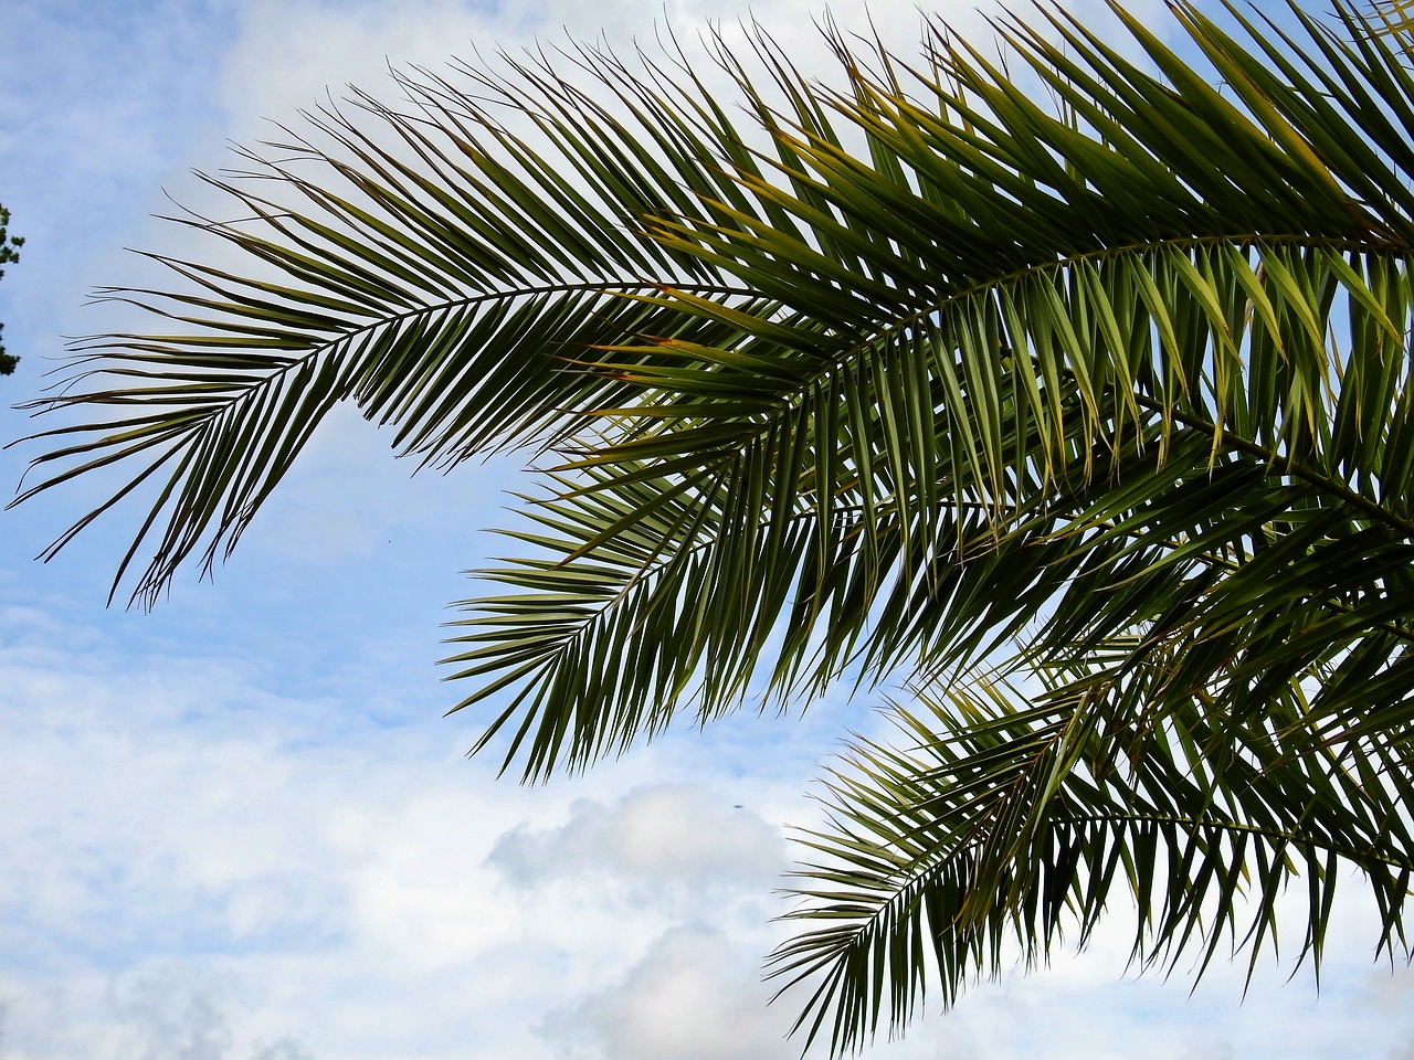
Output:
[[[1131,650],[1028,666],[1044,678],[1029,700],[1005,674],[923,693],[895,708],[905,750],[855,743],[829,779],[829,831],[806,837],[810,905],[793,916],[810,930],[773,955],[776,975],[813,985],[807,1036],[853,1052],[929,992],[947,1005],[984,971],[1044,961],[1068,930],[1083,947],[1126,909],[1141,967],[1196,950],[1200,974],[1225,943],[1254,967],[1277,946],[1288,882],[1307,909],[1282,916],[1319,961],[1352,869],[1387,914],[1374,947],[1407,950],[1414,823],[1390,806],[1414,794],[1408,741],[1332,743],[1298,683],[1256,725],[1135,714],[1171,671],[1152,656],[1130,671]]]

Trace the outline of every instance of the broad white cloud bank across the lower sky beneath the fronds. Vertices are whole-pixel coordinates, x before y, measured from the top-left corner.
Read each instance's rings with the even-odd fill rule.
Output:
[[[768,821],[806,815],[803,763],[829,741],[829,708],[819,729],[742,717],[522,789],[462,762],[458,728],[431,714],[386,729],[338,698],[271,691],[279,671],[124,657],[47,612],[10,616],[44,636],[0,650],[0,801],[24,807],[0,817],[7,1060],[797,1047],[781,1033],[800,999],[768,1008],[759,982],[782,912]],[[1281,968],[1244,1006],[1240,970],[1191,1001],[1182,978],[1123,981],[1116,927],[946,1018],[925,1006],[870,1054],[1299,1059],[1362,1040],[1383,1060],[1414,1019],[1408,977],[1366,971],[1369,926],[1356,900],[1319,1003]]]

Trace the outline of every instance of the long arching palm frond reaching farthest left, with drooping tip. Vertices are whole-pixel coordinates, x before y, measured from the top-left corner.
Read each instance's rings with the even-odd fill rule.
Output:
[[[641,334],[734,341],[731,324],[656,304],[665,285],[751,319],[776,314],[635,230],[645,213],[724,219],[713,196],[730,202],[734,174],[752,165],[725,114],[641,99],[645,86],[612,57],[577,58],[619,112],[643,107],[638,120],[543,58],[518,65],[519,81],[468,71],[489,100],[404,75],[409,112],[361,95],[354,116],[328,107],[305,116],[305,134],[246,151],[250,172],[206,178],[243,219],[174,220],[233,246],[250,270],[151,254],[187,283],[100,293],[170,321],[171,334],[78,343],[81,370],[31,407],[117,414],[37,435],[55,448],[35,464],[61,471],[16,503],[75,475],[150,464],[47,555],[151,479],[156,502],[115,581],[116,592],[150,550],[133,599],[151,603],[188,557],[206,570],[229,554],[338,401],[393,425],[395,445],[423,464],[543,448],[638,393],[585,366],[587,351]],[[509,131],[498,107],[530,130]]]

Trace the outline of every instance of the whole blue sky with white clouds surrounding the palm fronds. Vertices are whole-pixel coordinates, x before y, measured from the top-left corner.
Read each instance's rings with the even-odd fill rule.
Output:
[[[805,10],[752,6],[800,57]],[[834,13],[863,24],[858,4]],[[911,4],[872,13],[908,47]],[[387,61],[745,14],[734,0],[0,0],[0,202],[28,240],[0,280],[24,358],[0,390],[35,396],[62,336],[110,325],[86,293],[132,281],[123,247],[170,246],[150,219],[164,189],[199,198],[189,170],[219,168],[263,119],[348,82],[387,92]],[[6,440],[30,430],[0,417]],[[0,473],[18,482],[31,454],[6,451]],[[410,478],[337,416],[236,557],[153,613],[105,608],[122,519],[33,563],[88,486],[0,516],[0,1057],[796,1056],[759,982],[785,825],[812,823],[816,765],[846,726],[874,724],[868,704],[670,734],[546,787],[498,782],[462,756],[475,721],[441,717],[454,691],[436,660],[510,485],[502,465]],[[1134,981],[1102,933],[871,1054],[1407,1060],[1414,979],[1370,964],[1370,912],[1349,896],[1319,1001],[1285,967],[1244,1005],[1226,970],[1193,996],[1181,975]]]

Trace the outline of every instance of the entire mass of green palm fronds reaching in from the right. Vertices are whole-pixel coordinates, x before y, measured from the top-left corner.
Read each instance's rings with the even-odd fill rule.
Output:
[[[1045,8],[1005,62],[834,34],[829,86],[718,40],[725,99],[581,48],[308,116],[178,222],[209,259],[106,291],[161,324],[81,343],[21,499],[126,468],[54,551],[150,505],[150,603],[338,401],[423,465],[529,449],[451,660],[526,779],[906,687],[773,957],[837,1053],[1114,907],[1141,964],[1254,961],[1278,912],[1319,961],[1363,881],[1407,953],[1414,75],[1349,7],[1178,6],[1205,69],[1114,16],[1126,49]]]

